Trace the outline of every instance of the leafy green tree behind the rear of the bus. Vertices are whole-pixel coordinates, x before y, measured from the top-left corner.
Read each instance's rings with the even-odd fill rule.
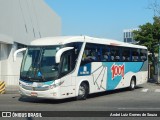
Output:
[[[140,25],[139,30],[133,31],[133,33],[138,44],[148,47],[151,52],[151,62],[155,71],[155,53],[158,52],[156,45],[160,43],[160,16],[154,16],[153,20],[153,23]]]

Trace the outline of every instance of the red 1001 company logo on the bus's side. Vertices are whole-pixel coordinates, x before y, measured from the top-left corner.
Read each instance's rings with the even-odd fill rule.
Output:
[[[112,80],[117,76],[124,77],[124,64],[123,65],[115,65],[115,63],[111,67],[112,71]]]

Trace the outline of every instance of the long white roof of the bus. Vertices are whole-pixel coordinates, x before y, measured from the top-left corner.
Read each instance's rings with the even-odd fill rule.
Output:
[[[103,44],[103,45],[147,49],[147,47],[141,46],[141,45],[134,45],[134,44],[124,43],[124,42],[113,40],[113,39],[94,38],[89,36],[59,36],[59,37],[40,38],[32,41],[30,46],[63,45],[71,42],[87,42],[87,43],[96,43],[96,44]]]

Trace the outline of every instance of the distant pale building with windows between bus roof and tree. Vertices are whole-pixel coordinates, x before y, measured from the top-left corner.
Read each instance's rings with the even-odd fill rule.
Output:
[[[123,30],[124,42],[132,43],[132,44],[136,43],[136,41],[133,39],[133,36],[134,36],[133,31],[134,30],[138,30],[138,28]]]

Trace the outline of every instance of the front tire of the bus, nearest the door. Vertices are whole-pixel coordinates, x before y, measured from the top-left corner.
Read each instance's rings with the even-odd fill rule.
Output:
[[[77,100],[86,100],[88,96],[89,88],[84,82],[81,83],[78,90]]]

